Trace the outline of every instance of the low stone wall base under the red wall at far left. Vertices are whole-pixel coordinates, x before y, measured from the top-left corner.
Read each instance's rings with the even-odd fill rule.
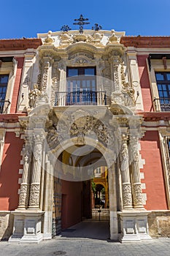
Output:
[[[10,212],[0,213],[0,240],[7,241],[12,235],[14,216]]]

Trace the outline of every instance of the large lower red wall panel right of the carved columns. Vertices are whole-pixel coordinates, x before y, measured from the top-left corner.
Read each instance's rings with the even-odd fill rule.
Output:
[[[146,184],[144,193],[147,193],[147,210],[167,210],[166,191],[163,180],[163,167],[161,164],[161,148],[157,131],[148,131],[141,140],[142,159],[145,159],[144,180]]]

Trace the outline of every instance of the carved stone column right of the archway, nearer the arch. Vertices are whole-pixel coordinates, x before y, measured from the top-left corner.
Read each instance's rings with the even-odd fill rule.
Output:
[[[132,196],[131,196],[131,181],[129,174],[129,162],[128,162],[128,138],[123,135],[122,146],[120,149],[120,169],[122,175],[122,189],[123,189],[123,208],[132,208]]]

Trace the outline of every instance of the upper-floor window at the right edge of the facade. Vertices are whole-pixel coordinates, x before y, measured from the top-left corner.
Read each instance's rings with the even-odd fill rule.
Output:
[[[159,104],[162,111],[170,111],[170,72],[155,72]]]

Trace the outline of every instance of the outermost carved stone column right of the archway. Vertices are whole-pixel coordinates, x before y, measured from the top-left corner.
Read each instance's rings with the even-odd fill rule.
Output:
[[[131,170],[133,179],[134,208],[143,208],[142,185],[139,169],[138,138],[131,138]]]

